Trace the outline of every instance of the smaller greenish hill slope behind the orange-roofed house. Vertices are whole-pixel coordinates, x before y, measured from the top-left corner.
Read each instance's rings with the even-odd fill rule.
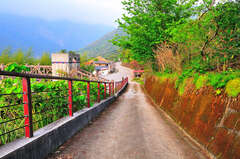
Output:
[[[114,36],[125,35],[125,33],[121,29],[116,29],[110,33],[107,33],[102,38],[96,40],[95,42],[87,45],[87,47],[80,49],[80,53],[87,52],[89,57],[103,56],[108,57],[112,54],[118,54],[118,47],[112,45],[109,40],[112,40]]]

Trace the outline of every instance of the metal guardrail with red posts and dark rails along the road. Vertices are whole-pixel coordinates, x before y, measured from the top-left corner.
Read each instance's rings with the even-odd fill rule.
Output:
[[[128,82],[128,78],[103,82],[6,71],[0,71],[0,75],[13,77],[3,79],[0,86],[21,88],[0,92],[0,145],[24,134],[31,138],[35,130],[113,96]]]

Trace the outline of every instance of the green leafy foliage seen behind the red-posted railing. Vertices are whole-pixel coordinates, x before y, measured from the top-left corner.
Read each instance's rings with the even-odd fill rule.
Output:
[[[19,70],[21,72],[21,70]],[[91,83],[91,106],[97,100],[97,83]],[[100,85],[101,99],[104,95],[104,86]],[[68,83],[67,81],[51,81],[31,79],[33,123],[37,130],[57,119],[68,115]],[[0,123],[22,117],[23,95],[22,80],[20,78],[6,78],[1,81],[0,94]],[[87,105],[86,82],[73,81],[73,111],[76,112]],[[107,94],[108,95],[108,94]],[[9,108],[4,106],[16,105]],[[2,107],[2,108],[1,108]],[[24,119],[1,124],[0,134],[24,126]],[[24,129],[16,130],[0,137],[0,145],[11,142],[23,136]]]

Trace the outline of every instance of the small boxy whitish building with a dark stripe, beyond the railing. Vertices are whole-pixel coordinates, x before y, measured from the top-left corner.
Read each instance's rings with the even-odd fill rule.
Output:
[[[53,53],[52,75],[70,75],[80,69],[80,55],[75,53]]]

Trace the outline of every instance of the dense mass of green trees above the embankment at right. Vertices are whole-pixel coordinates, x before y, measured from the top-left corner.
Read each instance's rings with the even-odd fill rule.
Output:
[[[164,48],[176,57],[166,59],[180,61],[180,67],[208,70],[238,67],[239,1],[124,0],[122,3],[126,14],[117,22],[127,36],[116,36],[113,44],[129,50],[140,63],[166,61],[161,60],[166,55],[166,51],[161,51]],[[167,67],[172,69],[172,66],[164,69]]]

